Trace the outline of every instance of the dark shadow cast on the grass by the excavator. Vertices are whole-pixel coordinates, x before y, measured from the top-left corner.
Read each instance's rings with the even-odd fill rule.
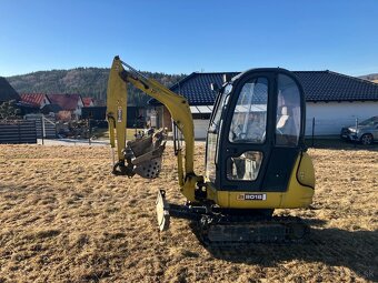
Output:
[[[291,260],[347,266],[366,280],[378,280],[378,231],[322,229],[322,222],[309,220],[311,234],[304,243],[251,244],[239,247],[205,246],[216,259],[233,263],[273,267]],[[198,232],[193,229],[198,236]]]

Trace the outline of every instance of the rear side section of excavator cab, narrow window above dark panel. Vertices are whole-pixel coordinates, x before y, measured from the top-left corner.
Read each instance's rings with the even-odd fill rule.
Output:
[[[278,73],[272,146],[261,190],[284,192],[297,158],[305,149],[306,102],[302,88],[290,73]]]

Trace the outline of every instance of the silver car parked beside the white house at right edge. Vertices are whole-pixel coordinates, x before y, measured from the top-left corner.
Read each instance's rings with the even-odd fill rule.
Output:
[[[341,129],[341,139],[371,144],[378,142],[378,115],[371,117],[356,125]]]

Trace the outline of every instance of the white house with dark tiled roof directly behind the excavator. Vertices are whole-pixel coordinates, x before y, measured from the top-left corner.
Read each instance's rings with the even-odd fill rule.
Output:
[[[222,84],[222,77],[239,72],[193,72],[172,85],[170,90],[186,97],[195,121],[195,137],[206,138],[210,113],[217,93],[210,83]],[[378,84],[332,71],[295,71],[301,82],[307,105],[306,134],[311,134],[312,119],[316,135],[339,134],[341,127],[354,124],[378,114]],[[157,100],[149,104],[158,115],[158,128],[171,128],[169,111]]]

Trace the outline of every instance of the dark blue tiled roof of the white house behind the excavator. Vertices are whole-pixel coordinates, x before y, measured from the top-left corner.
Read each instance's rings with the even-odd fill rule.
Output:
[[[378,101],[378,84],[332,71],[294,71],[301,82],[306,101]],[[170,90],[186,97],[190,105],[213,104],[216,92],[210,83],[222,84],[223,74],[235,77],[239,72],[193,72],[173,84]],[[159,104],[150,100],[150,104]]]

